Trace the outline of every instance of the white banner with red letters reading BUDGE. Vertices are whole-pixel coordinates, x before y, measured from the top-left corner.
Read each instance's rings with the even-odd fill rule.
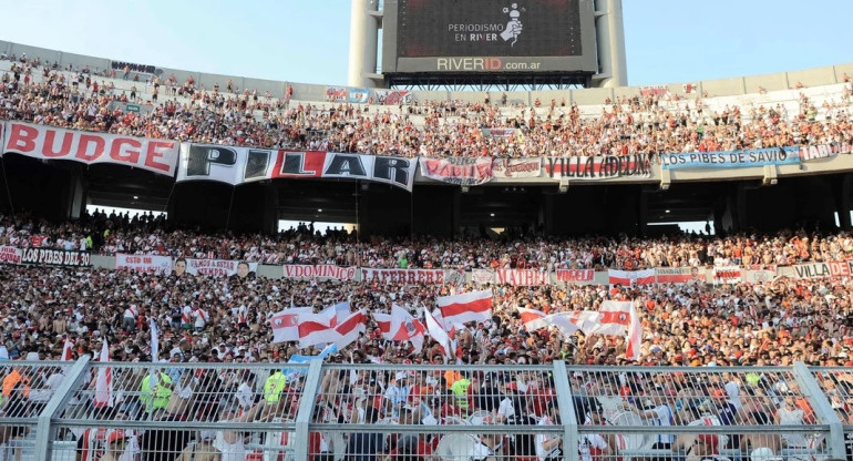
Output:
[[[2,154],[41,160],[70,160],[85,164],[111,163],[172,176],[178,156],[177,141],[63,130],[6,122]]]

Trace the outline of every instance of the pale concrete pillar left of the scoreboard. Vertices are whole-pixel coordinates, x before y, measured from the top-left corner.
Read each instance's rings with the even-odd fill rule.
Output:
[[[377,0],[351,0],[349,25],[349,71],[347,84],[358,88],[373,88],[367,78],[376,73],[377,45],[379,43],[378,19],[371,16],[377,10]]]

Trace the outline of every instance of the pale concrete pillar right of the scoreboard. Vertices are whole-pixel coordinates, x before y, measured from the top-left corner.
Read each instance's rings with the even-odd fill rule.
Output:
[[[625,25],[621,18],[621,0],[599,0],[604,14],[596,18],[595,31],[598,42],[598,63],[602,73],[610,76],[599,86],[613,88],[628,84],[628,64],[625,58]],[[603,7],[603,8],[602,8]]]

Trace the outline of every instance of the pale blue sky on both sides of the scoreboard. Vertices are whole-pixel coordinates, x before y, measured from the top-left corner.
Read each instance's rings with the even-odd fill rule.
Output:
[[[631,85],[853,62],[849,0],[623,4]],[[0,0],[0,40],[162,68],[347,83],[349,0]]]

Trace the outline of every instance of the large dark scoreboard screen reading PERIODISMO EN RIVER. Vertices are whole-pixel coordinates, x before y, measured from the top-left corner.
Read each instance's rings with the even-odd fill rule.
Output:
[[[388,0],[383,73],[597,71],[592,0]]]

